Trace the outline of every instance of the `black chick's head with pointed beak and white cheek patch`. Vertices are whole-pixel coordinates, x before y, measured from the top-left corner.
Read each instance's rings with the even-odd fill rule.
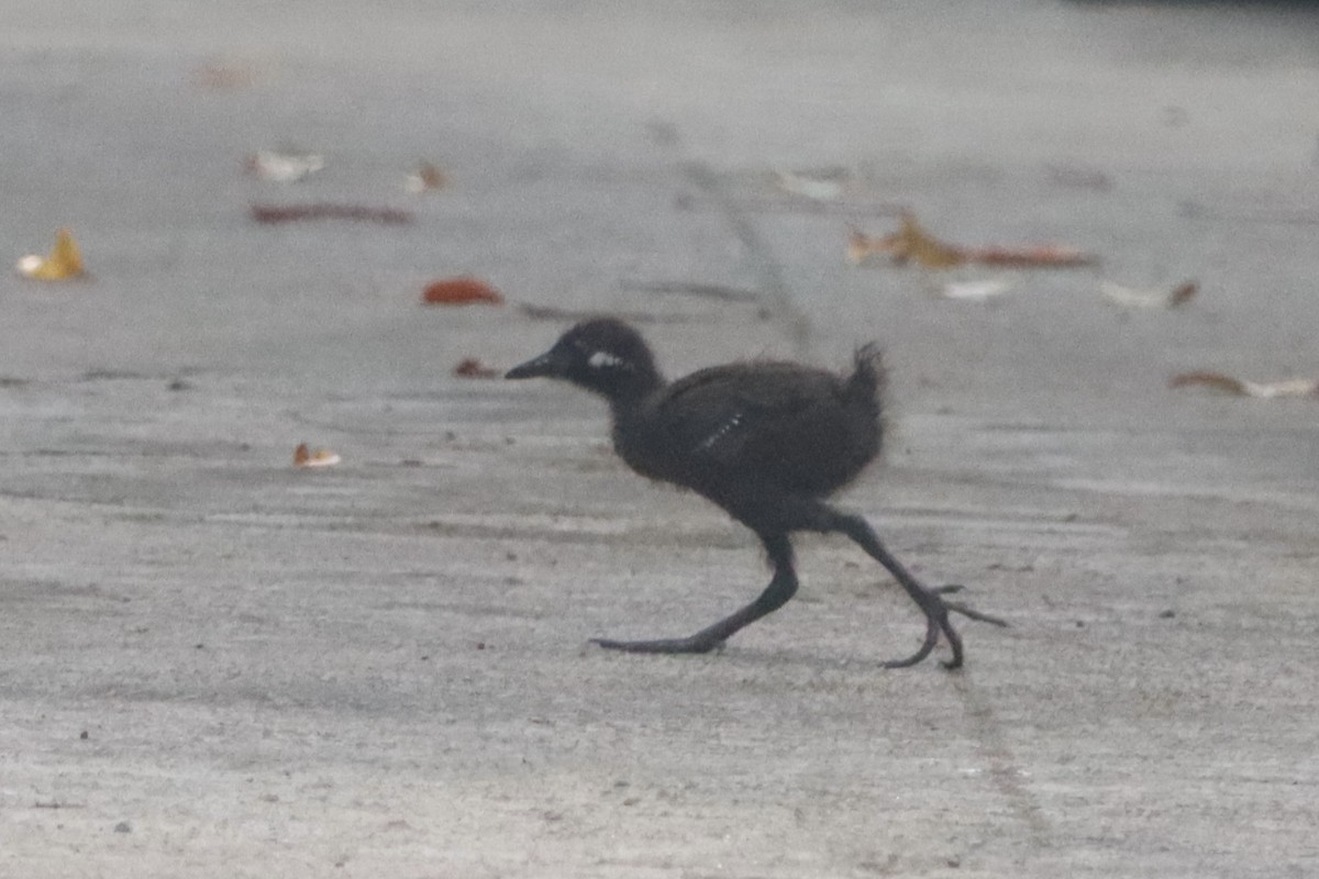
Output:
[[[583,320],[547,352],[504,377],[561,378],[617,402],[644,397],[663,383],[645,339],[615,318]]]

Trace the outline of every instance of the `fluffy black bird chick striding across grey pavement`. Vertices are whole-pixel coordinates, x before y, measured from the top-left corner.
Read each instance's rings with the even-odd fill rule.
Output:
[[[794,531],[839,531],[882,564],[926,615],[921,648],[888,668],[930,655],[939,634],[962,666],[956,611],[1000,619],[943,598],[960,586],[926,588],[894,559],[860,515],[824,498],[851,482],[880,452],[884,369],[872,344],[856,353],[849,376],[790,362],[741,362],[666,382],[641,335],[612,318],[584,320],[547,352],[506,378],[561,378],[600,394],[613,414],[613,447],[637,473],[696,492],[756,532],[773,580],[758,598],[687,638],[609,640],[611,650],[699,654],[782,608],[797,592]]]

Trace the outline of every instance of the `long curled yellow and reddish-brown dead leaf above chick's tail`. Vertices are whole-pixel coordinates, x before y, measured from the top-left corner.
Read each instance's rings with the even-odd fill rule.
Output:
[[[861,265],[878,254],[888,254],[894,265],[914,261],[926,269],[951,269],[967,262],[1020,269],[1066,269],[1097,262],[1089,253],[1058,244],[1010,248],[963,248],[946,244],[926,232],[911,212],[902,213],[902,225],[893,235],[871,237],[860,229],[851,231],[847,245],[849,262]]]

